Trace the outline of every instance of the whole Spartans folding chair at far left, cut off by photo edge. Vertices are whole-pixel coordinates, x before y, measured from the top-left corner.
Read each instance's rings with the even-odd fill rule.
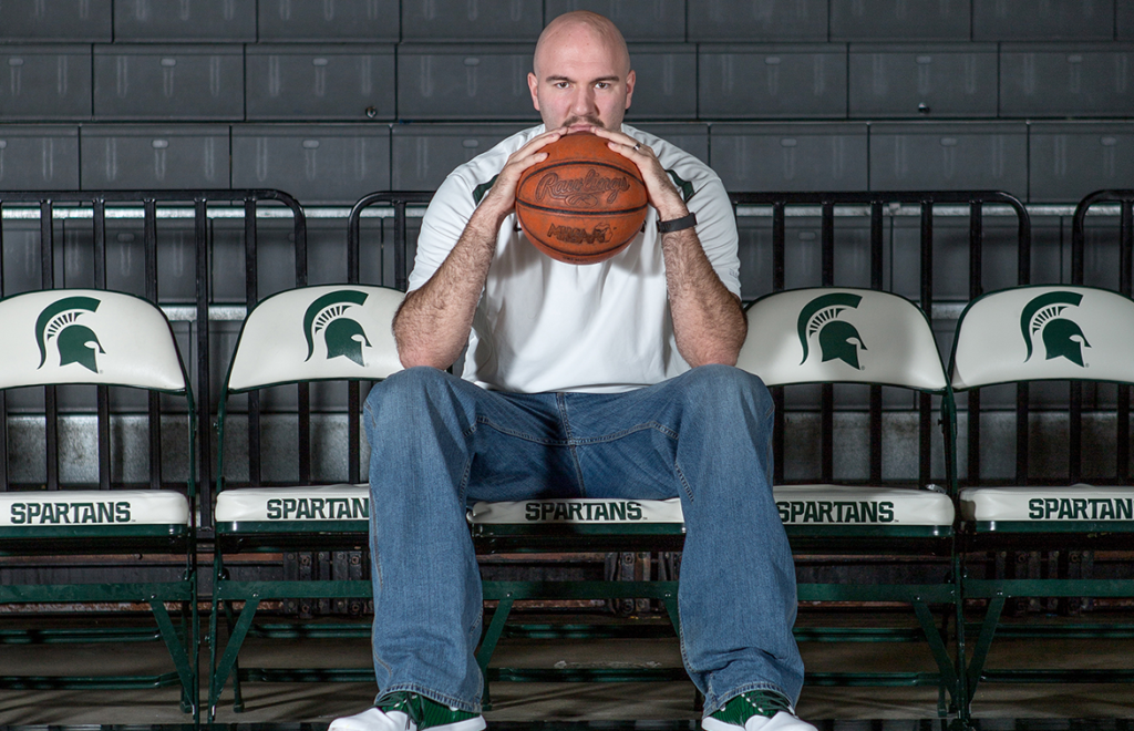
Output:
[[[99,675],[84,664],[75,675],[6,677],[3,685],[179,685],[183,709],[196,714],[195,411],[169,321],[156,305],[133,295],[48,289],[0,300],[0,434],[8,449],[0,483],[0,555],[11,577],[0,585],[0,603],[20,605],[10,607],[10,617],[18,613],[23,623],[35,623],[35,629],[8,629],[2,639],[120,644],[160,637],[172,660],[172,670],[156,675],[141,670]],[[98,386],[95,418],[60,414],[57,389],[75,393],[76,384]],[[31,427],[16,413],[36,399],[28,386],[43,386],[44,403],[42,420],[33,416]],[[144,406],[139,414],[121,413],[134,390],[151,394],[149,414]],[[158,407],[169,398],[185,410],[171,406],[162,415]],[[149,432],[134,428],[137,419],[147,422]],[[81,433],[86,423],[95,434]],[[34,458],[22,453],[33,439],[45,444],[42,473],[29,468]],[[174,441],[181,439],[187,452]],[[84,471],[76,467],[84,461],[76,445],[94,443],[96,468],[76,476]],[[188,454],[187,475],[175,478],[168,465],[163,471],[167,451]],[[62,567],[43,568],[59,559]],[[73,612],[48,622],[45,612],[64,604]],[[179,622],[170,605],[180,607]],[[130,620],[139,606],[149,609],[152,622]],[[92,614],[92,609],[107,611]],[[87,618],[98,621],[79,627]]]

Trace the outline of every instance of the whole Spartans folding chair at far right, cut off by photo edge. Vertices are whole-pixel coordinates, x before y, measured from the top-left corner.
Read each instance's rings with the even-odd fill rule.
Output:
[[[1076,561],[1091,551],[1128,550],[1134,533],[1129,392],[1122,385],[1134,383],[1134,301],[1115,291],[1082,286],[1017,287],[984,295],[968,305],[957,323],[950,374],[958,393],[1018,384],[1016,478],[995,481],[970,475],[968,486],[959,493],[959,537],[965,559],[962,595],[966,602],[987,602],[966,671],[970,697],[981,681],[1134,681],[1129,670],[1000,669],[987,662],[998,631],[1008,638],[1078,635],[1098,639],[1120,630],[1108,627],[1106,621],[1090,624],[1060,618],[1009,623],[1004,621],[1004,614],[1006,604],[1019,597],[1047,597],[1055,602],[1052,609],[1058,610],[1061,603],[1067,610],[1068,603],[1078,605],[1072,597],[1134,596],[1134,584],[1128,578],[1106,576],[1101,570],[1089,578],[1089,569]],[[1053,413],[1048,408],[1048,414],[1032,413],[1029,418],[1029,386],[1031,396],[1035,396],[1038,390],[1055,385],[1042,382],[1052,381],[1069,383],[1069,400],[1061,401]],[[1111,383],[1119,384],[1117,406],[1107,396],[1114,390],[1105,384]],[[1122,405],[1124,398],[1126,408]],[[1029,449],[1029,442],[1043,431],[1036,417],[1050,427],[1065,414],[1067,479],[1040,477],[1040,470],[1029,469],[1029,454],[1033,460],[1051,462],[1063,450],[1058,440],[1047,442],[1042,454]],[[1115,414],[1117,418],[1111,417]],[[1109,441],[1111,433],[1117,441]],[[1088,468],[1091,453],[1106,456],[1105,461],[1117,456],[1118,477],[1102,476],[1098,465]],[[1090,484],[1084,473],[1095,475]],[[1030,571],[1025,566],[1016,571],[1014,561],[1008,562],[1012,566],[998,566],[997,556],[1005,555],[1038,555],[1044,568]],[[1074,607],[1064,613],[1074,614]]]

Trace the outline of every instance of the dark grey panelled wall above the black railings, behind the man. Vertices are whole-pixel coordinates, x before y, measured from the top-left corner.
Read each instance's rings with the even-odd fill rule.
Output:
[[[0,189],[433,188],[538,121],[579,8],[631,42],[627,121],[734,190],[1134,185],[1124,0],[0,0]]]

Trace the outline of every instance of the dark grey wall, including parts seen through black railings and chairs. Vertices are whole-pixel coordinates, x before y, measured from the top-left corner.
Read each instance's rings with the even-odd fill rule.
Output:
[[[1069,281],[1074,203],[1134,187],[1128,0],[0,0],[0,190],[279,188],[308,206],[308,281],[344,281],[340,206],[435,188],[536,124],[534,41],[572,9],[611,17],[631,43],[627,121],[697,154],[734,192],[1006,190],[1030,204],[1032,281],[1050,283]],[[392,284],[390,224],[364,226],[363,280]],[[885,287],[917,297],[919,220],[887,226]],[[217,383],[246,297],[243,231],[210,227],[210,298],[234,307],[210,322]],[[1015,231],[1010,216],[985,221],[985,289],[1015,283]],[[41,287],[39,233],[37,221],[6,218],[2,294]],[[167,306],[193,301],[192,233],[179,221],[159,232]],[[91,286],[88,227],[57,221],[56,236],[57,284]],[[136,220],[111,222],[112,288],[145,291],[142,237]],[[290,221],[261,223],[261,297],[295,282],[289,237]],[[836,238],[836,283],[869,286],[866,221],[840,218]],[[742,218],[741,239],[752,299],[771,288],[768,218]],[[792,218],[787,240],[787,286],[818,284],[819,221]],[[1116,288],[1116,216],[1092,218],[1088,241],[1086,282]],[[970,291],[964,216],[936,216],[933,257],[947,355]],[[192,317],[174,317],[192,360]],[[92,398],[66,393],[62,408],[88,413]],[[289,399],[265,397],[264,408],[286,411]],[[333,413],[345,399],[318,391],[315,406]],[[1063,408],[1066,394],[1036,389],[1032,400]],[[1089,401],[1112,409],[1114,396]],[[988,473],[1009,477],[1014,394],[982,403],[998,411],[982,443],[1004,456]],[[10,413],[41,409],[9,399]],[[328,443],[345,444],[345,424],[320,427]],[[1061,444],[1042,451],[1061,465]],[[1088,461],[1109,465],[1114,443],[1100,444]],[[342,479],[345,459],[319,477]]]

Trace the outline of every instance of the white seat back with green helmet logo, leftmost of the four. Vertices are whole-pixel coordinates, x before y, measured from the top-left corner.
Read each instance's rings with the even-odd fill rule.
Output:
[[[60,383],[186,391],[169,321],[153,303],[96,289],[0,300],[0,389]]]

